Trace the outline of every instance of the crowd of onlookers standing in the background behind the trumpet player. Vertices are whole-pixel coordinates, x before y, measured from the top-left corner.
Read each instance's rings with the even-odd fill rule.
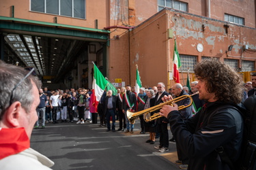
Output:
[[[255,75],[253,75],[253,82],[244,83],[244,90],[242,90],[243,101],[250,94],[250,90],[254,90]],[[112,90],[104,91],[98,104],[98,115],[100,117],[100,126],[106,126],[106,131],[115,132],[116,120],[119,120],[119,128],[117,131],[123,131],[124,133],[134,133],[134,123],[130,122],[127,112],[140,112],[144,109],[159,105],[166,101],[166,99],[175,99],[184,95],[191,95],[193,104],[189,107],[179,110],[179,114],[183,121],[189,120],[197,112],[199,112],[205,105],[205,99],[199,97],[197,84],[199,82],[191,82],[190,90],[187,86],[182,84],[174,84],[169,91],[165,91],[165,84],[158,82],[156,86],[152,88],[140,88],[139,94],[135,92],[135,87],[127,85],[126,87],[117,88],[117,95],[113,95]],[[252,84],[254,84],[252,86]],[[242,88],[241,88],[242,89]],[[250,92],[249,92],[250,91]],[[253,92],[252,92],[253,93]],[[255,92],[254,92],[255,93]],[[46,102],[45,114],[42,112],[42,107],[38,106],[38,116],[42,118],[42,128],[44,128],[44,122],[76,122],[76,124],[84,124],[85,121],[97,123],[97,117],[92,121],[91,110],[89,109],[91,90],[74,88],[65,92],[63,90],[55,90],[49,92],[47,88],[44,88],[44,92],[40,89],[41,103]],[[43,100],[42,100],[43,99]],[[44,101],[46,99],[46,101]],[[40,103],[40,104],[41,104]],[[186,106],[190,104],[190,99],[187,97],[180,101],[175,102],[179,106]],[[158,152],[169,151],[169,141],[176,143],[178,160],[176,164],[180,165],[180,169],[187,169],[189,163],[189,157],[182,151],[182,146],[176,142],[175,135],[169,139],[169,126],[172,123],[168,118],[162,116],[156,120],[149,120],[151,116],[160,112],[160,109],[150,112],[150,114],[139,115],[139,121],[141,126],[141,134],[149,133],[150,137],[145,141],[146,143],[156,143],[156,138],[159,137],[158,145],[154,146]],[[42,113],[42,114],[40,114]],[[96,113],[93,113],[96,114]],[[44,116],[45,115],[45,116]],[[69,116],[67,120],[67,115]],[[111,125],[112,122],[112,125]],[[38,128],[38,122],[35,124],[35,129]],[[171,129],[171,128],[170,128]]]

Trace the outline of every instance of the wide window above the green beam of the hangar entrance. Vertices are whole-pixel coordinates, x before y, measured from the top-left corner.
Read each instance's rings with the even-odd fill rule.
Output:
[[[31,0],[31,11],[85,19],[85,0]]]

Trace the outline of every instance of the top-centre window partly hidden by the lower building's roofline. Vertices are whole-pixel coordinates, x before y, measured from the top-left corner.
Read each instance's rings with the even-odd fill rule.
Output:
[[[164,9],[165,7],[188,12],[188,3],[175,0],[158,0],[158,11]]]

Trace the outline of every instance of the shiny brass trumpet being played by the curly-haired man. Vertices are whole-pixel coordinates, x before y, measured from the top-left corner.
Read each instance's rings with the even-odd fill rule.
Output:
[[[193,95],[197,95],[199,92],[194,93]],[[178,101],[182,101],[184,99],[189,98],[190,99],[190,103],[188,105],[180,105],[178,107],[179,110],[181,109],[185,109],[186,107],[190,107],[190,105],[192,105],[193,103],[193,99],[192,96],[193,95],[183,95],[181,97],[177,97],[175,99],[172,99],[171,101],[166,101],[165,103],[160,103],[159,105],[155,105],[153,107],[147,108],[147,109],[143,109],[140,112],[130,112],[129,110],[127,110],[126,112],[126,116],[129,119],[131,124],[134,124],[135,119],[138,118],[139,116],[143,115],[144,116],[144,120],[145,122],[150,122],[152,120],[155,120],[157,118],[160,118],[162,116],[160,116],[159,113],[156,113],[152,116],[150,116],[151,112],[154,112],[158,109],[161,109],[163,105],[173,105],[174,103],[178,102]]]

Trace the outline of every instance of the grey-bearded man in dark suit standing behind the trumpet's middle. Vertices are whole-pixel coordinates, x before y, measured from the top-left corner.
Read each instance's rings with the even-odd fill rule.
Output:
[[[162,103],[162,97],[169,95],[168,92],[165,91],[165,84],[162,82],[158,83],[157,90],[158,92],[156,93],[155,97],[155,105]],[[160,110],[155,111],[155,113],[158,112],[160,112]],[[159,152],[169,151],[169,134],[167,129],[168,122],[169,120],[165,117],[160,117],[157,120],[157,129],[158,133],[160,134],[160,144],[158,146],[154,146],[154,148]]]

